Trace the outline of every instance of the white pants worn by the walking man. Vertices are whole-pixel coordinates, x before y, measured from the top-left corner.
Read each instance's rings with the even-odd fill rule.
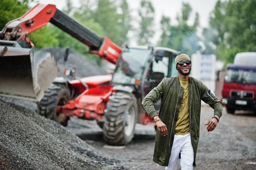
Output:
[[[180,154],[181,170],[192,170],[194,161],[194,152],[191,144],[190,134],[174,135],[172,153],[166,170],[176,170],[177,161]]]

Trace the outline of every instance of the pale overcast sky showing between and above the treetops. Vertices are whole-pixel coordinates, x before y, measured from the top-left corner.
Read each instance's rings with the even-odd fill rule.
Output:
[[[66,0],[36,0],[43,4],[54,4],[60,10],[66,6]],[[136,11],[140,6],[140,0],[127,0],[129,8],[134,11],[132,15],[136,17]],[[188,24],[194,23],[195,13],[199,13],[200,26],[207,27],[209,23],[209,14],[214,9],[217,0],[151,0],[155,9],[155,30],[160,29],[160,19],[162,15],[171,17],[171,23],[176,24],[177,13],[180,12],[182,2],[189,3],[192,7],[192,14],[189,18]],[[36,3],[33,3],[33,6]],[[75,6],[79,6],[79,0],[73,0]],[[154,40],[158,40],[160,32],[156,32]]]

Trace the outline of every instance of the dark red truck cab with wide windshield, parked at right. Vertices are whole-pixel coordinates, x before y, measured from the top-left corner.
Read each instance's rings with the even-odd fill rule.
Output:
[[[256,113],[256,66],[228,64],[226,67],[222,104],[228,113],[250,110]]]

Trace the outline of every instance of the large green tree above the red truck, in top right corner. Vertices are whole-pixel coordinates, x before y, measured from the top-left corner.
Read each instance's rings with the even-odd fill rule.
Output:
[[[256,51],[256,1],[218,2],[213,10],[206,37],[215,46],[215,54],[225,63],[233,63],[237,52]]]

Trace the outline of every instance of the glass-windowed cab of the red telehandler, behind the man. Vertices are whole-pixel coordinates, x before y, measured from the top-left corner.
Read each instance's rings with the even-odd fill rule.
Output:
[[[127,47],[119,57],[111,84],[130,86],[137,97],[144,98],[163,78],[177,75],[176,55],[175,50],[162,47]]]

